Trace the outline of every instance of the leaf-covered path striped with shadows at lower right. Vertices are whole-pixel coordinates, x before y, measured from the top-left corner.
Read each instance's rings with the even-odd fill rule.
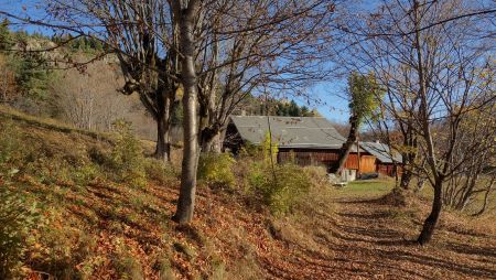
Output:
[[[320,214],[321,222],[308,228],[314,249],[289,241],[290,256],[280,266],[266,266],[273,278],[496,279],[496,244],[490,234],[441,226],[435,241],[419,247],[410,240],[420,219],[405,226],[401,214],[377,200],[345,197],[335,203],[334,218]]]

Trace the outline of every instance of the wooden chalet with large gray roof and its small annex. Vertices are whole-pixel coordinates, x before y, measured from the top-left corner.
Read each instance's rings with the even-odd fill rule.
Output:
[[[346,139],[322,117],[231,116],[226,130],[224,148],[237,153],[246,143],[260,144],[267,132],[278,143],[278,162],[294,161],[300,165],[324,165],[327,170],[338,160]],[[355,173],[374,173],[378,169],[377,155],[355,146],[345,169]],[[384,172],[380,172],[384,173]],[[389,173],[385,173],[390,175]]]

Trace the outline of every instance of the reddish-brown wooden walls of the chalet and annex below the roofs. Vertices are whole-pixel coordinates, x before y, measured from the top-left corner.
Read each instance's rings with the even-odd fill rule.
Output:
[[[294,162],[299,165],[331,166],[339,158],[338,150],[327,149],[284,149],[280,148],[278,162]],[[376,157],[360,154],[360,173],[376,172]],[[351,153],[345,162],[345,169],[358,170],[358,155]]]

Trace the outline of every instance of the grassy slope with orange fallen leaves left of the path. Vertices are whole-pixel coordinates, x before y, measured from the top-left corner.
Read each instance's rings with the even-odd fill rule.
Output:
[[[37,201],[44,214],[45,226],[32,231],[26,252],[25,270],[32,279],[47,274],[57,279],[166,274],[259,279],[265,256],[282,254],[283,247],[268,230],[268,211],[247,208],[244,195],[214,194],[200,185],[196,220],[179,228],[170,220],[179,190],[175,175],[149,180],[145,187],[101,174],[74,182],[67,173],[90,163],[91,148],[108,152],[111,136],[0,109],[0,122],[12,123],[12,130],[22,134],[19,144],[32,146],[30,158],[36,158],[30,163],[34,168],[12,166],[21,172],[11,185]],[[148,142],[143,146],[150,148]],[[79,161],[82,166],[65,170]]]

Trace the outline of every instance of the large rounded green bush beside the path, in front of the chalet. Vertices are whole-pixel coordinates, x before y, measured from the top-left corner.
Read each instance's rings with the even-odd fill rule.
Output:
[[[290,212],[303,194],[310,190],[311,179],[293,164],[271,165],[256,162],[248,174],[248,184],[260,194],[274,215]]]

